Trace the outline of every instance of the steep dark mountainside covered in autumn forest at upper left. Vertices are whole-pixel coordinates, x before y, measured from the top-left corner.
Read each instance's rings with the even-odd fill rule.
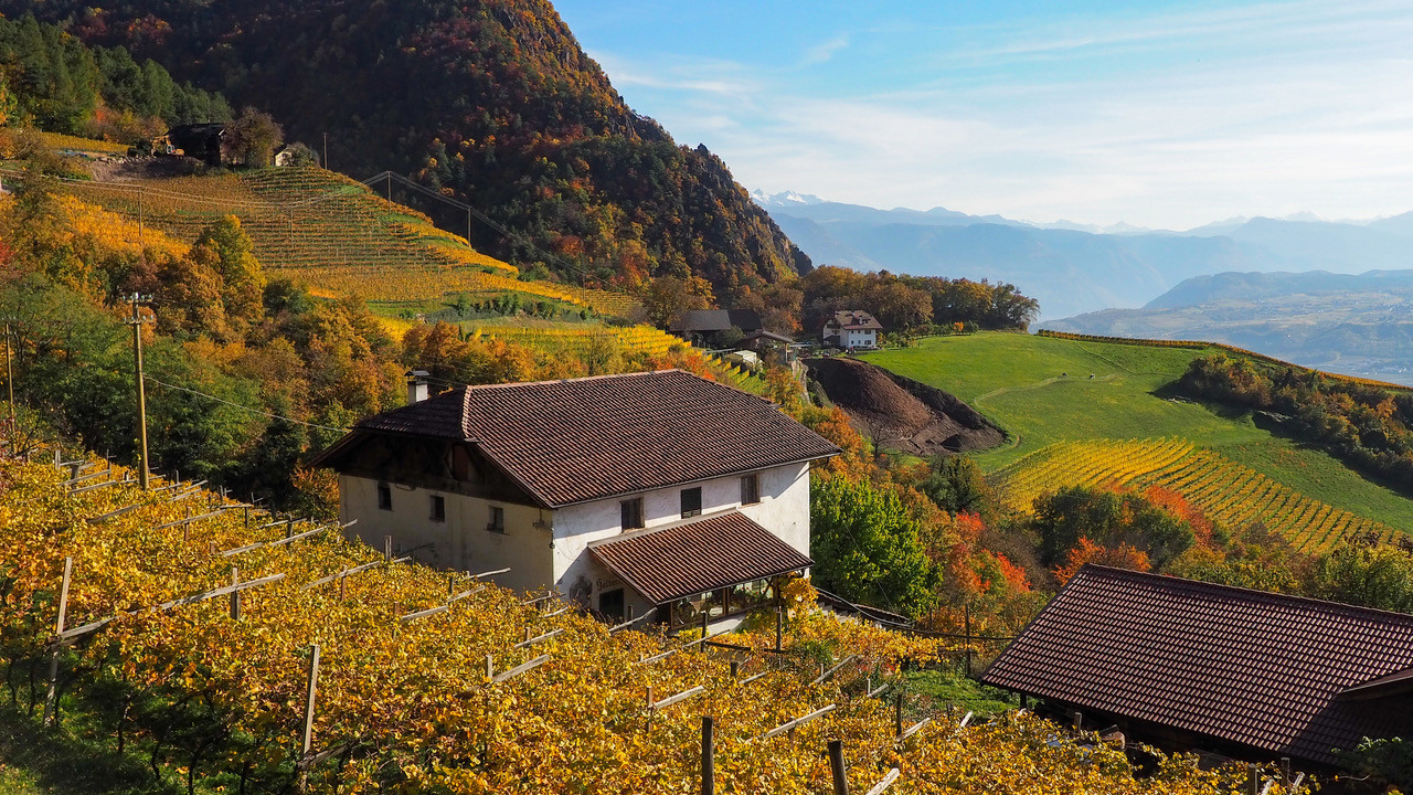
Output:
[[[704,276],[718,297],[810,267],[705,147],[639,116],[547,0],[3,0],[271,112],[336,170],[415,174],[512,231],[473,243],[569,280]]]

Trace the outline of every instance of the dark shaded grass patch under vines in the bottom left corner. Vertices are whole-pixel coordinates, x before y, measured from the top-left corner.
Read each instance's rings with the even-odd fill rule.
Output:
[[[117,754],[106,733],[93,737],[65,716],[57,730],[40,726],[8,703],[0,706],[0,761],[57,795],[175,795],[177,788],[153,779],[153,771],[129,754]]]

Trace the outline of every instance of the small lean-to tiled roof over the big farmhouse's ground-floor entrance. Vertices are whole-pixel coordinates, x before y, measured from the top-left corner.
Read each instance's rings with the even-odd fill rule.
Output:
[[[814,563],[736,511],[593,543],[589,553],[654,604]]]

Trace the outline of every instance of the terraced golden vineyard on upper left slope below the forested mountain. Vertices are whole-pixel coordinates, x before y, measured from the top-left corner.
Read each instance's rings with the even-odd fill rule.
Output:
[[[123,182],[71,181],[83,201],[144,229],[194,240],[222,215],[236,215],[273,274],[292,276],[315,294],[374,301],[435,301],[447,294],[507,291],[562,301],[605,315],[634,306],[623,294],[550,282],[521,282],[513,265],[475,250],[407,207],[362,182],[321,168],[267,168],[242,175]],[[137,245],[137,224],[124,233]]]

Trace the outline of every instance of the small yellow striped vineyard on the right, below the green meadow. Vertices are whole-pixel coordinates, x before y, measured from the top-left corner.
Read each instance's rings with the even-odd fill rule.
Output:
[[[1397,532],[1180,439],[1051,444],[992,477],[1019,511],[1029,511],[1043,492],[1064,487],[1157,485],[1229,528],[1262,522],[1303,552],[1328,549],[1348,535],[1372,533],[1388,540]]]

